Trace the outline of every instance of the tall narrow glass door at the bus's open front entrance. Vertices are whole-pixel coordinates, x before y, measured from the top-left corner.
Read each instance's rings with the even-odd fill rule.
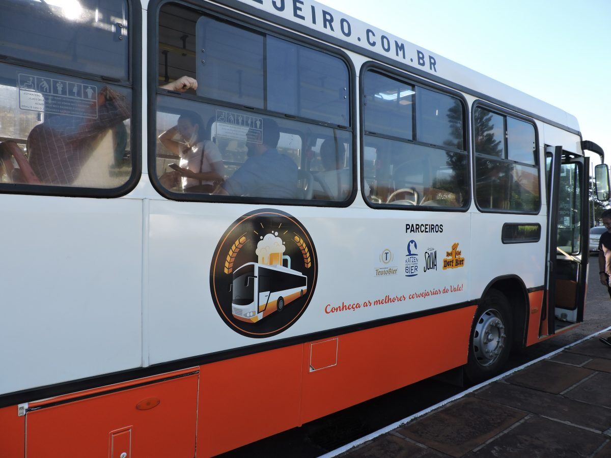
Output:
[[[550,333],[583,321],[588,264],[585,243],[588,230],[588,195],[584,192],[587,162],[587,158],[574,157],[573,154],[563,152],[557,188],[552,191],[552,198],[557,199],[557,213],[554,215],[557,232],[555,246],[550,246],[551,261],[554,263],[550,284],[555,290],[554,294],[550,295],[550,309],[554,308],[555,318],[553,324],[549,323]],[[550,206],[550,213],[553,208],[554,206]],[[554,230],[554,225],[551,230]]]

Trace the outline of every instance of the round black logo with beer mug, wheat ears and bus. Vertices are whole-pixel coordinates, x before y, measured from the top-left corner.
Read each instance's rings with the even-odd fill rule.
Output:
[[[256,210],[236,220],[216,246],[210,290],[229,327],[263,338],[299,319],[317,274],[316,250],[301,223],[284,211]]]

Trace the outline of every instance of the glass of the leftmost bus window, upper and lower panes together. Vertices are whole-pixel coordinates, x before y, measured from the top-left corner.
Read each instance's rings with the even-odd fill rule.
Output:
[[[128,77],[126,26],[124,1],[8,2],[0,54],[65,73],[0,64],[0,186],[114,189],[129,180],[131,90],[99,81]]]

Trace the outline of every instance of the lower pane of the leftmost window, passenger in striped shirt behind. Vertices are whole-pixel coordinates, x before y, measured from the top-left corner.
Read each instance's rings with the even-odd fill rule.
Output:
[[[131,91],[0,67],[0,182],[111,189],[131,175]]]

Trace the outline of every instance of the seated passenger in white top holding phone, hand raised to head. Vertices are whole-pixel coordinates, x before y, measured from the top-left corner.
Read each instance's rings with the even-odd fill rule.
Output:
[[[205,124],[195,112],[184,112],[177,125],[159,136],[159,141],[170,152],[180,156],[180,163],[170,167],[159,181],[167,188],[179,184],[187,192],[212,192],[215,183],[223,180],[225,166],[219,148],[205,139]],[[182,141],[180,141],[182,140]]]

